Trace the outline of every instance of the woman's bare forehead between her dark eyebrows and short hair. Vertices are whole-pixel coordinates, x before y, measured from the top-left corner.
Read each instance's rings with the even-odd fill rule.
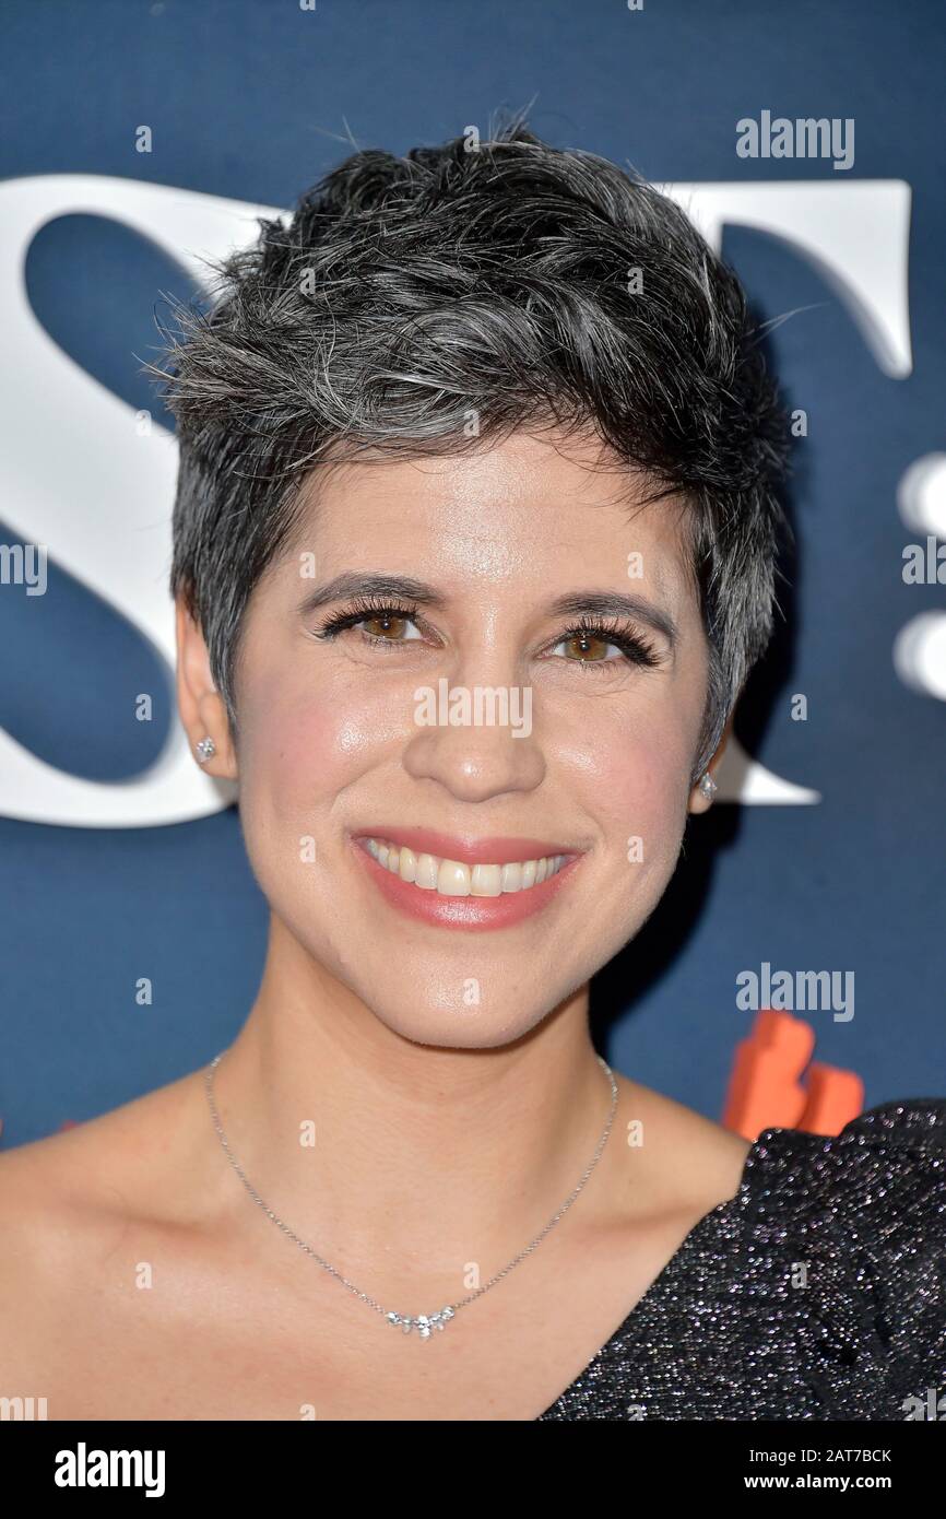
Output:
[[[369,561],[457,585],[548,586],[594,571],[679,600],[686,506],[674,495],[642,504],[651,489],[586,436],[515,433],[466,454],[336,462],[302,488],[290,554],[314,551],[319,577]]]

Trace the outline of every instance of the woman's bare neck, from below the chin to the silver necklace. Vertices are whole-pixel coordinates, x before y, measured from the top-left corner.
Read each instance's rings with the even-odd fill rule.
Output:
[[[419,1045],[278,924],[214,1095],[267,1208],[364,1291],[418,1274],[456,1290],[469,1262],[484,1282],[562,1208],[610,1109],[586,986],[515,1044]],[[585,1223],[606,1212],[613,1150],[612,1130],[574,1205]]]

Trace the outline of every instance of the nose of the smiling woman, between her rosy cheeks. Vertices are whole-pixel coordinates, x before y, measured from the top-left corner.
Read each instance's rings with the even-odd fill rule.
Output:
[[[531,687],[454,685],[442,676],[415,691],[415,734],[404,766],[457,801],[533,791],[545,758],[531,720]]]

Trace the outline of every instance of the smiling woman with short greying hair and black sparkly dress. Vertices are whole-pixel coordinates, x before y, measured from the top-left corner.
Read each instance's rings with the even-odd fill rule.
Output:
[[[178,696],[269,952],[207,1068],[3,1156],[0,1391],[907,1417],[946,1103],[747,1144],[589,1037],[771,629],[787,424],[735,276],[519,122],[355,153],[222,273],[159,371]]]

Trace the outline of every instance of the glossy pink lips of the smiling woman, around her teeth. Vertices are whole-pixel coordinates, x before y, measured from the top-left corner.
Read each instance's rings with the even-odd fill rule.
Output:
[[[360,829],[351,835],[354,852],[363,867],[392,907],[408,917],[436,924],[440,928],[510,928],[533,917],[559,895],[571,881],[582,855],[563,845],[551,845],[536,838],[481,838],[477,843],[451,838],[428,828]],[[402,881],[367,854],[360,840],[386,838],[405,845],[415,854],[433,854],[442,860],[457,860],[462,864],[512,864],[518,860],[539,860],[544,855],[571,855],[562,869],[524,892],[504,892],[501,896],[440,896],[439,892],[424,892],[412,881]]]

